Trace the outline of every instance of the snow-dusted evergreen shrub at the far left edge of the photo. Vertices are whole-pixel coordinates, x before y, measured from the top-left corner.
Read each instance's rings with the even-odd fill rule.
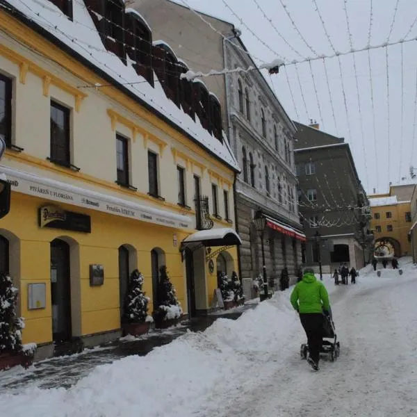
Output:
[[[18,294],[12,279],[0,273],[0,353],[22,352],[24,319],[16,313]]]

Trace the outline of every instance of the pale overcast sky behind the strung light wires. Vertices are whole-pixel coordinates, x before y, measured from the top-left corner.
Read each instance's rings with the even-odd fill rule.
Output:
[[[176,1],[183,4],[182,0]],[[317,120],[320,129],[344,137],[350,143],[359,177],[368,193],[372,193],[373,188],[381,193],[386,192],[390,181],[395,183],[402,177],[407,177],[409,181],[410,165],[415,164],[417,168],[417,146],[413,145],[417,42],[416,40],[399,41],[417,36],[416,0],[184,1],[197,10],[233,22],[242,30],[242,40],[257,63],[270,62],[279,56],[284,57],[288,63],[293,60],[304,61],[297,67],[288,65],[285,70],[281,69],[279,74],[266,78],[269,81],[272,79],[277,97],[294,120],[304,124],[309,124],[310,119]],[[334,50],[345,53],[352,49],[345,8],[353,49],[363,49],[368,45],[371,3],[373,18],[370,45],[399,43],[387,48],[372,49],[370,66],[368,51],[355,53],[357,76],[354,71],[353,54],[341,56],[341,69],[338,58],[326,58],[324,63],[322,59],[311,61],[310,70],[310,63],[306,58],[331,56],[334,55]],[[316,5],[325,23],[329,39],[316,11]],[[291,18],[286,14],[284,6]],[[396,13],[395,9],[397,9]],[[265,15],[271,22],[265,18]],[[260,40],[252,35],[245,25],[252,29]],[[300,33],[297,33],[294,26]],[[388,79],[386,51],[388,51]],[[371,100],[370,69],[374,111]],[[342,88],[341,72],[344,88]],[[312,75],[316,83],[317,95]]]

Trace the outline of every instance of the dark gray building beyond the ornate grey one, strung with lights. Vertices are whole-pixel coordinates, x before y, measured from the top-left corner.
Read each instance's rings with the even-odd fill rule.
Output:
[[[373,234],[370,208],[349,145],[295,122],[295,164],[300,219],[306,243],[303,261],[323,272],[340,263],[362,268],[369,261]]]

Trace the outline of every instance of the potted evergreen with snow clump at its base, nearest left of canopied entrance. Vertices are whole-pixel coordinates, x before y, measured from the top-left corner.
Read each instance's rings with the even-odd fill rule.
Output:
[[[167,267],[161,266],[158,285],[158,308],[154,311],[156,327],[166,328],[177,324],[182,316],[181,304],[167,274]]]

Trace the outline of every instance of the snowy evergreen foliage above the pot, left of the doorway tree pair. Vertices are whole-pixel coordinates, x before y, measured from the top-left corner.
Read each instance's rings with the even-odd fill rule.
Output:
[[[153,321],[152,317],[147,314],[149,298],[142,291],[142,286],[143,275],[138,270],[134,270],[131,273],[129,288],[124,300],[123,321],[126,323]]]

